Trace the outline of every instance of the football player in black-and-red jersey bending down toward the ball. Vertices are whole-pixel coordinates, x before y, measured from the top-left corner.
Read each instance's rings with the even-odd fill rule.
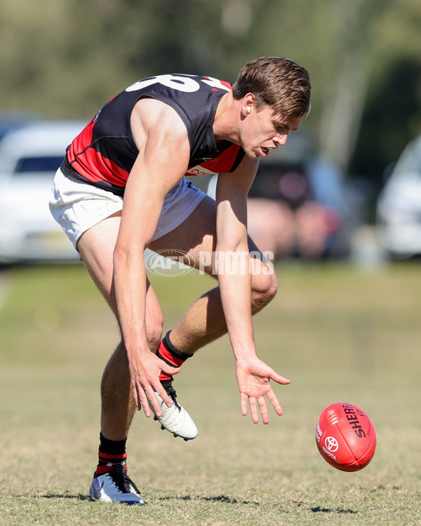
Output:
[[[275,295],[273,269],[247,234],[246,201],[260,157],[286,143],[310,108],[307,71],[264,57],[233,86],[209,76],[161,75],[116,95],[67,148],[50,208],[119,322],[121,343],[101,384],[98,466],[91,497],[144,504],[128,477],[126,440],[135,409],[185,440],[197,429],[175,399],[173,375],[198,349],[229,333],[241,412],[282,414],[270,380],[288,384],[257,356],[253,313]],[[216,202],[185,175],[220,173]],[[144,251],[174,250],[233,261],[202,269],[218,279],[162,338],[163,315]],[[254,257],[250,257],[253,252]],[[225,261],[227,259],[225,258]],[[234,271],[232,271],[234,269]],[[243,271],[241,270],[243,269]],[[266,397],[266,398],[265,398]],[[206,402],[203,401],[203,410]]]

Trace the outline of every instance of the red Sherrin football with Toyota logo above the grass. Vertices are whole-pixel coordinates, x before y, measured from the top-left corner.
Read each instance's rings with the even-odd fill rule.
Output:
[[[373,458],[374,426],[356,405],[330,404],[317,422],[316,444],[330,466],[341,471],[359,471]]]

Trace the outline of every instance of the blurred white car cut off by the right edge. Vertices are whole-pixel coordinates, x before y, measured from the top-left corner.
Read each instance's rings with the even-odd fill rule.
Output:
[[[377,236],[391,259],[421,255],[421,136],[404,149],[380,193]]]

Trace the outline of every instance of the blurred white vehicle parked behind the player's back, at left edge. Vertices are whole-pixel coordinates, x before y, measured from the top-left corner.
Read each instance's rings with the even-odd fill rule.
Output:
[[[48,199],[79,121],[38,121],[0,144],[0,264],[72,262],[77,254],[53,220]]]

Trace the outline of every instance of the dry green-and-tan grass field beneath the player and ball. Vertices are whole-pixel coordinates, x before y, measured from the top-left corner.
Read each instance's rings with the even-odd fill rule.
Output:
[[[0,525],[421,525],[421,267],[277,268],[255,318],[260,357],[292,380],[284,414],[242,417],[228,339],[186,363],[176,387],[191,443],[136,415],[129,473],[147,506],[91,502],[98,385],[118,333],[80,265],[0,275]],[[208,278],[157,278],[171,328]],[[358,473],[328,466],[314,427],[333,402],[363,407],[377,451]]]

